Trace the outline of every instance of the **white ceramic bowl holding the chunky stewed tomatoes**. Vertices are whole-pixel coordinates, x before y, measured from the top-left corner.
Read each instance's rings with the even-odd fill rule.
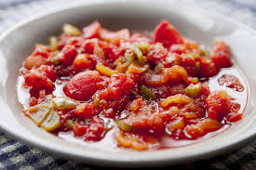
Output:
[[[117,30],[153,30],[162,19],[169,20],[182,35],[211,46],[214,39],[224,40],[230,46],[237,67],[244,73],[249,88],[249,99],[244,118],[221,134],[193,145],[167,150],[109,150],[83,146],[63,140],[37,128],[21,112],[17,99],[16,80],[19,68],[33,50],[35,43],[46,43],[47,37],[58,34],[63,23],[85,26],[100,20],[104,27]],[[256,134],[256,33],[235,21],[209,14],[202,9],[157,2],[108,2],[59,8],[47,15],[20,23],[0,37],[0,127],[12,137],[59,156],[113,166],[149,166],[187,163],[207,159]]]

